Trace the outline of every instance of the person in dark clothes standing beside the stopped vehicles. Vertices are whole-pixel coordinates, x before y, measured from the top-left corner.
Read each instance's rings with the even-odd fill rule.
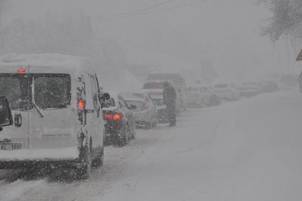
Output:
[[[169,126],[176,126],[176,91],[167,81],[164,82],[163,99],[167,106]]]

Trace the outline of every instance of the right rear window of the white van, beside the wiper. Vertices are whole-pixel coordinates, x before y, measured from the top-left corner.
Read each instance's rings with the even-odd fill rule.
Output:
[[[34,100],[41,109],[61,109],[70,105],[69,74],[33,74]]]

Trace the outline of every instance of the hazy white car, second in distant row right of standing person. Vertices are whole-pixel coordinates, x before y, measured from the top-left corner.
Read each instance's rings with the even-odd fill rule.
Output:
[[[239,90],[234,84],[215,84],[215,92],[220,99],[239,100]]]

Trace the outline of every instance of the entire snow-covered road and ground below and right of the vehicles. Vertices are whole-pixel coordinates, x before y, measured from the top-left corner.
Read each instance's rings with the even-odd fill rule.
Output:
[[[90,179],[0,180],[0,200],[301,200],[301,116],[297,90],[189,110],[106,147]]]

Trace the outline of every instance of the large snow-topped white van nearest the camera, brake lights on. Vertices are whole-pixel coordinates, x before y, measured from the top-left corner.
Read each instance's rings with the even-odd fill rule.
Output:
[[[87,177],[103,164],[100,90],[88,58],[0,56],[0,94],[14,119],[0,132],[0,169],[73,168]]]

